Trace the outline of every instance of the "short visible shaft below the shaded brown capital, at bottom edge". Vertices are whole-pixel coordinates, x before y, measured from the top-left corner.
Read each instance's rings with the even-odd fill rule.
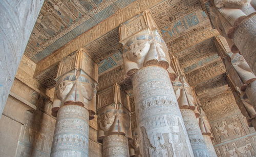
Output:
[[[121,134],[112,134],[103,139],[103,157],[128,157],[128,140]]]

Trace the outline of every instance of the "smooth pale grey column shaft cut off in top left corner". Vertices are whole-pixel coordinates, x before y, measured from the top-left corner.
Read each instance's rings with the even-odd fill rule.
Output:
[[[0,117],[44,1],[0,1]]]

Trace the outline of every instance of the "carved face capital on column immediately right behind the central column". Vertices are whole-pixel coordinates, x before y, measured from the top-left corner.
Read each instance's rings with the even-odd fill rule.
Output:
[[[181,77],[182,82],[179,81],[179,78],[173,82],[173,87],[175,91],[176,98],[178,100],[180,109],[189,108],[195,110],[195,100],[190,85],[187,83],[185,77]]]

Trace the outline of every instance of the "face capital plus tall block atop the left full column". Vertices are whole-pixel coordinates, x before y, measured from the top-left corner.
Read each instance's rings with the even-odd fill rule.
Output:
[[[88,68],[84,65],[86,56],[83,51],[77,51],[69,58],[64,59],[58,65],[58,73],[55,78],[55,95],[52,107],[52,115],[56,116],[58,109],[63,105],[79,105],[90,111],[91,117],[95,108],[90,106],[96,93],[96,81],[87,74]],[[95,65],[96,66],[96,65]]]

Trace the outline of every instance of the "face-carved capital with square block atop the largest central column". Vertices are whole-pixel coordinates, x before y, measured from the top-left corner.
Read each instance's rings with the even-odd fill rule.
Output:
[[[120,28],[125,72],[132,76],[143,66],[158,65],[168,69],[168,48],[149,12],[127,20]]]

